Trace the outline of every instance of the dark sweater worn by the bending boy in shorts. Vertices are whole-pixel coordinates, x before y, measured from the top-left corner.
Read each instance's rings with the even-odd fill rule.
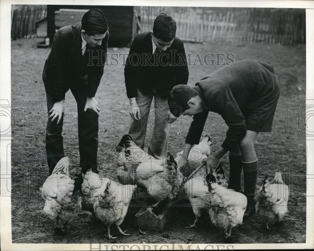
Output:
[[[186,143],[198,144],[211,111],[219,113],[229,126],[222,144],[225,150],[234,149],[245,136],[246,115],[279,96],[273,66],[251,59],[212,72],[198,81],[195,89],[205,110],[193,116]]]

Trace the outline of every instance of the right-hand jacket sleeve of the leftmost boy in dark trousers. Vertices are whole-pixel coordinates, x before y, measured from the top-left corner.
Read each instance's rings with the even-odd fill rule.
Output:
[[[87,75],[87,84],[88,84],[87,96],[88,97],[95,97],[98,86],[100,84],[101,77],[104,74],[104,65],[106,63],[106,57],[107,57],[108,40],[109,40],[109,30],[107,31],[106,37],[102,40],[102,43],[101,43],[102,50],[100,54],[98,55],[97,62],[94,64],[94,66],[91,67]]]

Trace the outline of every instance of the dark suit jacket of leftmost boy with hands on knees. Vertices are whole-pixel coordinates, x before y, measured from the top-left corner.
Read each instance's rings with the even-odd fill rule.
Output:
[[[53,39],[42,74],[46,92],[55,102],[64,99],[73,81],[82,76],[82,26],[81,23],[60,28]],[[94,97],[104,73],[109,31],[101,45],[90,47],[89,62],[85,64],[87,75],[87,96]],[[97,51],[96,51],[97,50]],[[87,53],[87,52],[85,52]]]

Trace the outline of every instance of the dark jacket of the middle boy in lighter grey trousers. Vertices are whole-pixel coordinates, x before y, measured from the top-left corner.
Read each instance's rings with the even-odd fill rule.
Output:
[[[157,56],[153,55],[150,32],[136,34],[124,67],[127,97],[137,97],[137,88],[147,93],[155,88],[160,97],[166,97],[172,87],[187,84],[187,69],[184,45],[175,38],[171,46]]]

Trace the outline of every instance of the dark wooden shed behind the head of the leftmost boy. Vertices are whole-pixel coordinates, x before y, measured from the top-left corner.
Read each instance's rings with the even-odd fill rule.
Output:
[[[47,36],[52,42],[56,29],[77,24],[84,13],[99,8],[105,14],[109,24],[110,47],[129,47],[138,32],[139,7],[102,6],[102,5],[47,5]]]

